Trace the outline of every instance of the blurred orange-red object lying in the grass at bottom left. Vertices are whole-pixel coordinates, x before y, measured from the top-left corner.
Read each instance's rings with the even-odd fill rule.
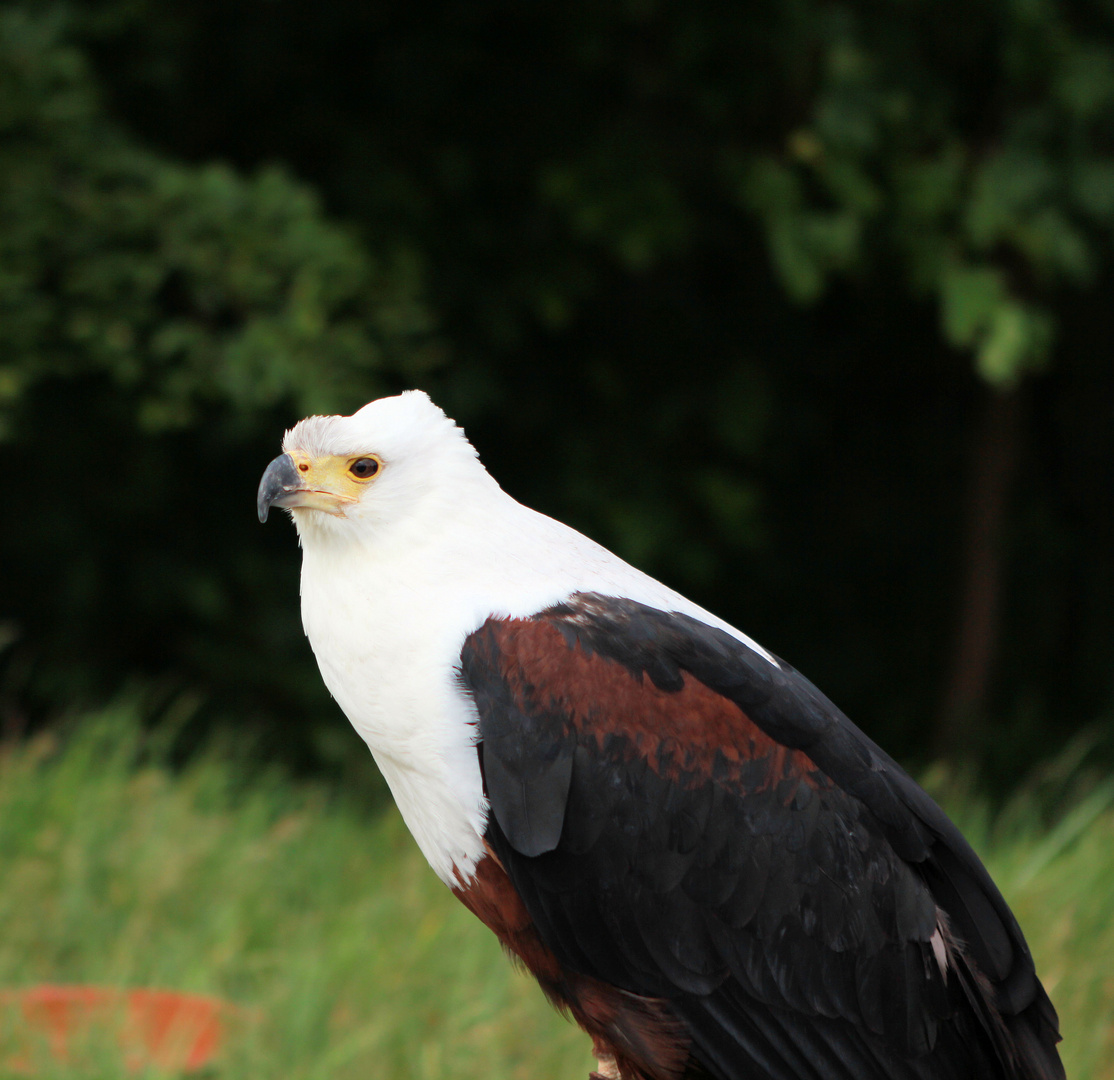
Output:
[[[219,1051],[225,1021],[235,1011],[218,998],[174,990],[49,985],[0,990],[0,1032],[7,1035],[14,1028],[16,1035],[14,1053],[0,1059],[0,1066],[33,1071],[36,1042],[45,1043],[56,1061],[71,1061],[82,1043],[91,1044],[99,1035],[97,1047],[115,1044],[128,1069],[201,1069]]]

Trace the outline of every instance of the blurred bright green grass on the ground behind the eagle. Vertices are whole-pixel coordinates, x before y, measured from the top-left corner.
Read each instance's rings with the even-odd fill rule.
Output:
[[[244,1013],[209,1070],[219,1080],[587,1076],[587,1038],[434,878],[397,815],[215,751],[177,773],[153,759],[124,708],[63,743],[0,753],[0,987],[226,998]],[[962,785],[942,790],[1025,927],[1068,1076],[1114,1080],[1111,789],[1092,786],[1051,829],[1025,798],[991,826]],[[118,1074],[41,1064],[59,1080]]]

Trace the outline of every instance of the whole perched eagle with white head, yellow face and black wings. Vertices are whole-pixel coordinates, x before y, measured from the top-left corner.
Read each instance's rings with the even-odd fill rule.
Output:
[[[788,664],[510,498],[424,393],[295,425],[272,506],[325,684],[594,1077],[1064,1076],[928,795]]]

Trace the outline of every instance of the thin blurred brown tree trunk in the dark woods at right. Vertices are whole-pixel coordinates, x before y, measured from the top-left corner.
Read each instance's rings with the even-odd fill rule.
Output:
[[[1020,391],[991,390],[971,454],[955,652],[935,749],[955,757],[977,745],[1000,622],[1003,546],[1022,441]]]

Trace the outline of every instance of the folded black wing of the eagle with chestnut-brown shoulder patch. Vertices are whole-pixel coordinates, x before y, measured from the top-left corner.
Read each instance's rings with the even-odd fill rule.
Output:
[[[977,856],[792,669],[577,594],[488,620],[460,677],[486,839],[537,934],[565,970],[664,1003],[692,1074],[1064,1076]]]

